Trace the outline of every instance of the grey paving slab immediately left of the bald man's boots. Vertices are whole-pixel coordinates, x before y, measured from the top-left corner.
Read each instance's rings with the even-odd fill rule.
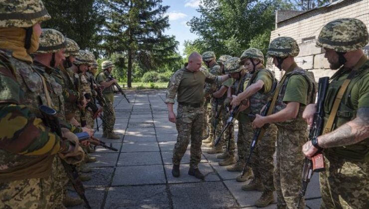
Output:
[[[163,165],[117,167],[112,186],[165,184]]]

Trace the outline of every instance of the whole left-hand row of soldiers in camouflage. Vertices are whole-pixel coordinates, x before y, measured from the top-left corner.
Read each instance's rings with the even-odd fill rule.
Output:
[[[85,164],[96,161],[88,155],[90,140],[103,143],[93,137],[98,116],[103,137],[120,138],[113,131],[114,65],[104,61],[95,80],[98,65],[91,52],[55,29],[41,29],[50,19],[41,0],[4,1],[0,13],[0,208],[82,204],[67,194],[65,165],[91,172]],[[45,106],[50,115],[43,113]],[[79,141],[80,132],[90,139]]]

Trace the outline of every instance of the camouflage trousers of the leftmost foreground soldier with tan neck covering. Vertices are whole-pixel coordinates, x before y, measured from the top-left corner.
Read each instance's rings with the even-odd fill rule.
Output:
[[[1,209],[49,209],[51,177],[0,183]]]

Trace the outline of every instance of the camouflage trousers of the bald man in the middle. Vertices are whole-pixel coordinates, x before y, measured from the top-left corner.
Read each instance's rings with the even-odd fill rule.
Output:
[[[197,168],[201,160],[201,133],[203,129],[203,107],[186,107],[179,105],[177,109],[176,127],[177,142],[173,149],[173,164],[179,165],[191,139],[190,162],[191,168]]]

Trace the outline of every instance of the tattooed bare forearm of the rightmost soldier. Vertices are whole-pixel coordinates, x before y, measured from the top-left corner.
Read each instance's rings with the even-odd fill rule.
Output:
[[[319,137],[321,147],[339,147],[356,144],[369,137],[369,107],[358,109],[357,117],[331,133]]]

